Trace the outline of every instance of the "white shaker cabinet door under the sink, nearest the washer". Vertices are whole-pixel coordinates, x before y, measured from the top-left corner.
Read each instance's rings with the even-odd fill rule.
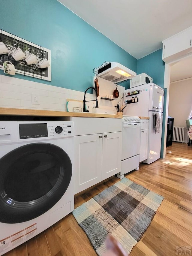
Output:
[[[74,137],[75,194],[101,182],[102,134]]]

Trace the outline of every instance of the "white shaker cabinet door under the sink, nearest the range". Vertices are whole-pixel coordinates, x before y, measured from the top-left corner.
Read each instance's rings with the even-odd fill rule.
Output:
[[[122,132],[103,134],[102,180],[121,171]]]

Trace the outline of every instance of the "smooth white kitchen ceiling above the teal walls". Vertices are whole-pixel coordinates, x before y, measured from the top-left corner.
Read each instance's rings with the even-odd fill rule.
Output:
[[[58,0],[136,59],[192,25],[191,0]]]

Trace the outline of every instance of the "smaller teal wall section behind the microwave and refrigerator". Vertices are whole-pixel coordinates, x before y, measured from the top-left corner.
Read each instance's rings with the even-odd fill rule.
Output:
[[[162,60],[162,49],[151,53],[142,59],[137,61],[137,74],[146,73],[153,78],[153,83],[164,88],[164,71],[165,62]],[[165,110],[166,110],[166,98],[167,89],[164,94],[164,116],[163,116],[163,129],[162,129],[162,139],[161,139],[161,158],[163,158],[164,149],[164,133],[165,133]]]

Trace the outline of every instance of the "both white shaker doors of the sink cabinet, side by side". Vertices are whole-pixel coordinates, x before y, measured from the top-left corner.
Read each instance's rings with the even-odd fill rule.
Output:
[[[79,135],[74,143],[75,194],[120,171],[122,132]]]

